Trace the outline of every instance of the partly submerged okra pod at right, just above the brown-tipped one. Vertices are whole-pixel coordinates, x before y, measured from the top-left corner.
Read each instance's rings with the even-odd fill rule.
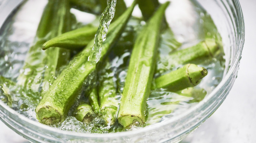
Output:
[[[160,64],[158,72],[163,73],[180,64],[197,64],[199,61],[202,62],[207,58],[214,57],[219,49],[219,44],[217,44],[215,40],[205,39],[192,47],[171,52],[165,57],[167,59],[167,65]]]

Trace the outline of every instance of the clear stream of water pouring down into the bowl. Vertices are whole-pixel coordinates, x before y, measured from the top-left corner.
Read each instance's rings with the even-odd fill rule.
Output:
[[[117,0],[107,0],[107,7],[103,11],[99,21],[99,27],[95,34],[94,47],[88,57],[91,64],[96,64],[101,57],[102,43],[106,40],[109,24],[114,18]]]

